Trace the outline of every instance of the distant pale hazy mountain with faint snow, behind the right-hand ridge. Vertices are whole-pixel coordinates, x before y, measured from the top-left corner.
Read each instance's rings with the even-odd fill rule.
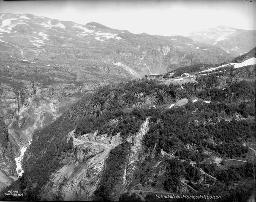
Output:
[[[218,26],[193,32],[193,40],[220,47],[231,56],[247,53],[255,47],[255,30]]]

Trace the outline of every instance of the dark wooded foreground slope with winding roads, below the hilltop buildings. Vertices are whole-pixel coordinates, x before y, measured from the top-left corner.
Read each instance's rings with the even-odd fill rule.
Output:
[[[19,200],[32,201],[150,201],[157,193],[246,201],[255,66],[226,68],[182,85],[133,80],[99,88],[35,131],[25,174],[1,197],[12,200],[4,192],[18,190]]]

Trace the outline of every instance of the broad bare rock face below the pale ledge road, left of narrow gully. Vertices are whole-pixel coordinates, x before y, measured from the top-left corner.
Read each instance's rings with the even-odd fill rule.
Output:
[[[112,138],[98,136],[98,132],[74,137],[74,131],[68,134],[74,139],[74,148],[65,159],[65,165],[53,173],[44,187],[42,198],[46,200],[88,200],[94,197],[106,158],[111,149],[122,141],[120,134]]]

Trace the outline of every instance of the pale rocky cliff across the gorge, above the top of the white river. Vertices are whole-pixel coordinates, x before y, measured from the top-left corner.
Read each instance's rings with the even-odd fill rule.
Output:
[[[22,89],[3,91],[0,99],[0,115],[8,125],[8,132],[17,146],[22,147],[32,139],[36,129],[56,120],[78,100],[76,97],[62,98],[53,86],[33,85]]]

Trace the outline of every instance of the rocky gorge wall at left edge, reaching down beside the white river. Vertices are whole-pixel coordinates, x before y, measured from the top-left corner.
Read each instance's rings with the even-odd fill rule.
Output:
[[[35,130],[56,120],[78,98],[61,98],[53,86],[40,83],[15,89],[6,82],[1,87],[0,117],[7,131],[0,140],[1,172],[17,176],[14,158],[19,156],[19,150],[33,138]]]

